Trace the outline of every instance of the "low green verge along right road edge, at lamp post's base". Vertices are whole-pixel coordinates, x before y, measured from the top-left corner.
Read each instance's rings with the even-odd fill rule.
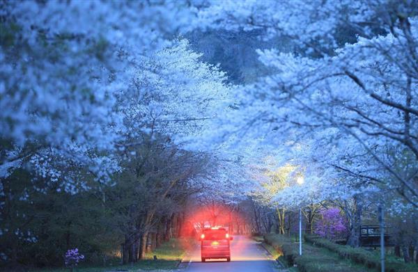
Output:
[[[338,254],[333,253],[327,248],[319,248],[312,246],[308,243],[304,243],[302,256],[299,255],[299,245],[297,242],[293,242],[289,237],[284,237],[280,234],[268,234],[265,235],[265,242],[270,244],[274,250],[277,251],[279,260],[285,261],[285,264],[289,266],[289,269],[295,269],[292,266],[297,265],[297,270],[302,272],[368,272],[374,271],[356,264],[350,259],[342,259]]]

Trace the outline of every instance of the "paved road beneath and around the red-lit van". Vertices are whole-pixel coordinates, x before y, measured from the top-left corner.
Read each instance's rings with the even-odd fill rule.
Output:
[[[242,236],[234,236],[231,241],[231,262],[224,259],[208,259],[201,262],[200,247],[191,253],[191,262],[187,272],[256,272],[277,271],[274,261],[260,243]]]

